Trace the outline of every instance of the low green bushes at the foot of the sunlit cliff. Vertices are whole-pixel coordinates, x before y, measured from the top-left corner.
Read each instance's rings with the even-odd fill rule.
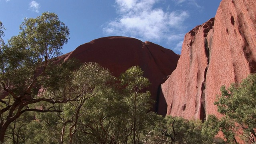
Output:
[[[146,144],[209,144],[201,135],[202,122],[181,117],[156,118],[154,128],[144,138]]]

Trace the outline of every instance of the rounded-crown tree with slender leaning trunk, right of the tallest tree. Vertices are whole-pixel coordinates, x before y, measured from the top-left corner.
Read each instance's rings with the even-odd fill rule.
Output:
[[[102,106],[104,103],[101,101],[101,97],[105,97],[105,94],[111,90],[113,84],[115,84],[115,78],[111,75],[110,71],[96,63],[82,65],[73,73],[73,78],[70,85],[68,85],[68,90],[65,89],[64,91],[66,91],[68,95],[80,95],[80,97],[77,101],[62,104],[62,113],[59,116],[63,124],[61,143],[67,143],[64,140],[65,131],[68,131],[65,137],[69,139],[68,142],[70,144],[73,142],[77,143],[80,139],[83,139],[83,136],[79,137],[78,131],[81,131],[82,126],[84,126],[84,119],[88,119],[89,116],[96,113],[92,111],[93,108],[86,107],[85,105],[94,102],[91,103],[90,106],[94,108],[99,106],[98,109],[104,108]],[[64,91],[60,91],[60,93]]]

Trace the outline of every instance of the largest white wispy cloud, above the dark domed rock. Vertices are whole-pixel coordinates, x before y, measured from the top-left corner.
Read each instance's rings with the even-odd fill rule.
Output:
[[[171,10],[156,6],[162,0],[116,0],[116,20],[108,22],[104,33],[149,40],[151,42],[174,42],[180,45],[183,23],[189,17],[186,10]],[[166,11],[166,9],[168,11]]]

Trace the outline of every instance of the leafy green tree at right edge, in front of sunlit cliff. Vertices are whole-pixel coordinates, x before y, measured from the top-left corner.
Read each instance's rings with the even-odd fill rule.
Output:
[[[218,123],[222,124],[226,138],[236,142],[234,136],[239,134],[245,142],[256,142],[256,74],[249,75],[239,85],[231,84],[228,89],[222,86],[221,93],[215,104],[224,115]]]

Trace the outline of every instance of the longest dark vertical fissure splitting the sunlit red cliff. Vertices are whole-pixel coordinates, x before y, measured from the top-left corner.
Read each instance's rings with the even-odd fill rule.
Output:
[[[202,122],[206,120],[206,112],[205,112],[206,74],[207,74],[209,63],[210,63],[210,60],[209,60],[210,50],[209,50],[209,44],[208,44],[207,38],[204,39],[204,50],[207,58],[207,66],[204,70],[204,81],[202,82],[202,86],[201,86],[201,104],[200,104],[199,117],[200,117],[200,120],[202,120]]]

